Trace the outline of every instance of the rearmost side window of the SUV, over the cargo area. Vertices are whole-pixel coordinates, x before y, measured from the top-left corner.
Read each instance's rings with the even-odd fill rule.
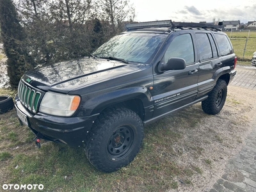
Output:
[[[214,34],[214,36],[217,40],[221,56],[232,54],[232,47],[228,41],[228,37],[221,34]]]

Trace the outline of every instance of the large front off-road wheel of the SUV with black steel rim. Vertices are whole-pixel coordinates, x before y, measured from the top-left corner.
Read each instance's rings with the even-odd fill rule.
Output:
[[[93,166],[115,172],[134,159],[143,137],[143,122],[134,111],[108,108],[95,120],[84,149]]]

